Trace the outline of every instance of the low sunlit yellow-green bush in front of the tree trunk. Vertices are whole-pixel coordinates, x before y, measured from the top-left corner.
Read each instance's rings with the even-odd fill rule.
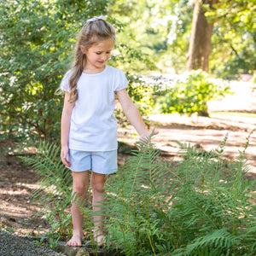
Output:
[[[158,108],[162,113],[198,113],[206,115],[207,102],[224,96],[230,88],[222,80],[211,80],[202,70],[192,71],[177,79],[172,88],[161,92]]]

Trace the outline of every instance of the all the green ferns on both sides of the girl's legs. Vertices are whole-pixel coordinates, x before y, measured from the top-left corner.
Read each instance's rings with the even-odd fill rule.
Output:
[[[210,152],[179,143],[183,160],[169,165],[159,159],[160,151],[149,139],[140,143],[140,150],[133,152],[116,175],[108,177],[104,213],[94,213],[108,217],[108,242],[113,243],[111,247],[108,244],[108,251],[114,253],[117,248],[125,255],[253,255],[255,181],[245,177],[249,137],[244,150],[230,163],[224,159],[227,137]],[[63,212],[71,199],[70,174],[56,160],[55,147],[42,145],[35,159],[23,160],[33,164],[44,180],[36,195],[48,220],[54,220],[49,235],[62,230],[68,236],[70,216]],[[85,229],[92,237],[89,210],[84,209]],[[60,213],[61,217],[55,218]]]

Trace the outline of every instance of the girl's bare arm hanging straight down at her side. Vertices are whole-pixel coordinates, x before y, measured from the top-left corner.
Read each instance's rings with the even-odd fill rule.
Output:
[[[61,160],[65,166],[70,167],[70,162],[67,161],[68,154],[68,137],[70,129],[70,119],[73,112],[74,103],[68,102],[69,93],[65,92],[64,105],[61,115]]]

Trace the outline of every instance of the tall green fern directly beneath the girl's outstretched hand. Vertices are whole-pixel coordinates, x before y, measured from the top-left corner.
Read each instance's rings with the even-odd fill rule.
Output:
[[[107,229],[111,240],[119,241],[127,255],[146,255],[146,247],[154,253],[155,240],[159,238],[155,232],[157,222],[153,224],[150,219],[151,208],[156,202],[165,207],[166,195],[170,194],[164,176],[159,175],[165,172],[156,161],[159,151],[151,147],[150,137],[139,143],[139,150],[133,152],[117,175],[108,178],[106,185]]]

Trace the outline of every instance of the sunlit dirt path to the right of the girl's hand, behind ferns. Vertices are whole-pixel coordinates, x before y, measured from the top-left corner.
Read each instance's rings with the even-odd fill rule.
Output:
[[[239,154],[238,150],[243,150],[247,137],[253,131],[253,125],[247,124],[247,128],[237,128],[232,125],[228,117],[223,119],[209,119],[207,118],[186,118],[183,119],[185,124],[182,125],[182,120],[177,121],[179,117],[172,116],[172,123],[160,126],[159,138],[155,138],[159,148],[177,155],[179,147],[175,141],[179,143],[191,143],[197,145],[206,151],[213,148],[218,148],[218,145],[223,142],[224,137],[228,135],[228,140],[225,146],[225,156],[230,160],[235,160]],[[154,117],[157,119],[157,117]],[[166,117],[167,119],[167,117]],[[241,124],[243,125],[243,123]],[[183,128],[181,128],[181,126]],[[250,172],[256,175],[256,132],[251,135],[250,144],[247,148],[247,160],[251,166]]]

